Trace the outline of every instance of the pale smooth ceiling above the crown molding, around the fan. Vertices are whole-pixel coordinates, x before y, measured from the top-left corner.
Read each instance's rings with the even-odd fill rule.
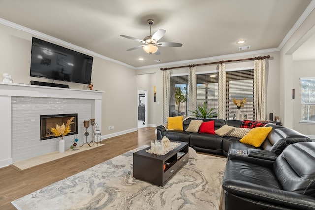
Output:
[[[311,0],[0,0],[0,18],[133,67],[196,60],[281,46]],[[144,39],[166,30],[150,55],[127,35]],[[238,40],[244,44],[237,44]],[[58,44],[58,43],[57,43]],[[238,47],[251,48],[239,51]],[[138,60],[143,58],[144,60]]]

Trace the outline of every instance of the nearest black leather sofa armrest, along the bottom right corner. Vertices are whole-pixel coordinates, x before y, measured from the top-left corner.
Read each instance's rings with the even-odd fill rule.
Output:
[[[230,194],[255,202],[259,201],[288,209],[315,209],[315,199],[307,195],[232,179],[223,180],[222,187]]]

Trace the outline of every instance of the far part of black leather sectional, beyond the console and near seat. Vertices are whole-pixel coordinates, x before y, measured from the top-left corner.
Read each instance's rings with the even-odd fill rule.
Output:
[[[189,146],[196,151],[224,155],[227,157],[230,144],[233,142],[239,142],[240,138],[232,136],[218,136],[216,134],[207,133],[190,133],[185,130],[188,128],[191,120],[202,120],[204,122],[214,121],[215,130],[219,129],[223,125],[227,124],[233,127],[241,127],[242,120],[223,120],[223,119],[196,119],[188,118],[183,121],[183,131],[181,130],[166,130],[163,125],[157,127],[158,139],[162,139],[166,136],[170,140],[188,142]],[[272,127],[266,140],[258,149],[271,151],[276,155],[279,155],[284,148],[295,142],[311,141],[309,137],[303,135],[295,130],[275,125],[267,124],[267,127]],[[248,148],[255,148],[254,146],[247,144],[234,144],[235,149],[247,150]]]

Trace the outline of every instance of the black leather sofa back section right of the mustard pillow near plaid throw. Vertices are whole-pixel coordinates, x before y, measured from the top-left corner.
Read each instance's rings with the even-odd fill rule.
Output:
[[[274,124],[268,124],[266,127],[272,127],[272,130],[263,142],[262,147],[264,150],[272,151],[278,155],[290,144],[311,141],[308,136],[287,127]]]

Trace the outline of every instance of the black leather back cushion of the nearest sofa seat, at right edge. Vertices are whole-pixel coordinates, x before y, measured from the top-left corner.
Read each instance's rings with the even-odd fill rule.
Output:
[[[285,191],[315,197],[315,142],[287,146],[273,168]]]

